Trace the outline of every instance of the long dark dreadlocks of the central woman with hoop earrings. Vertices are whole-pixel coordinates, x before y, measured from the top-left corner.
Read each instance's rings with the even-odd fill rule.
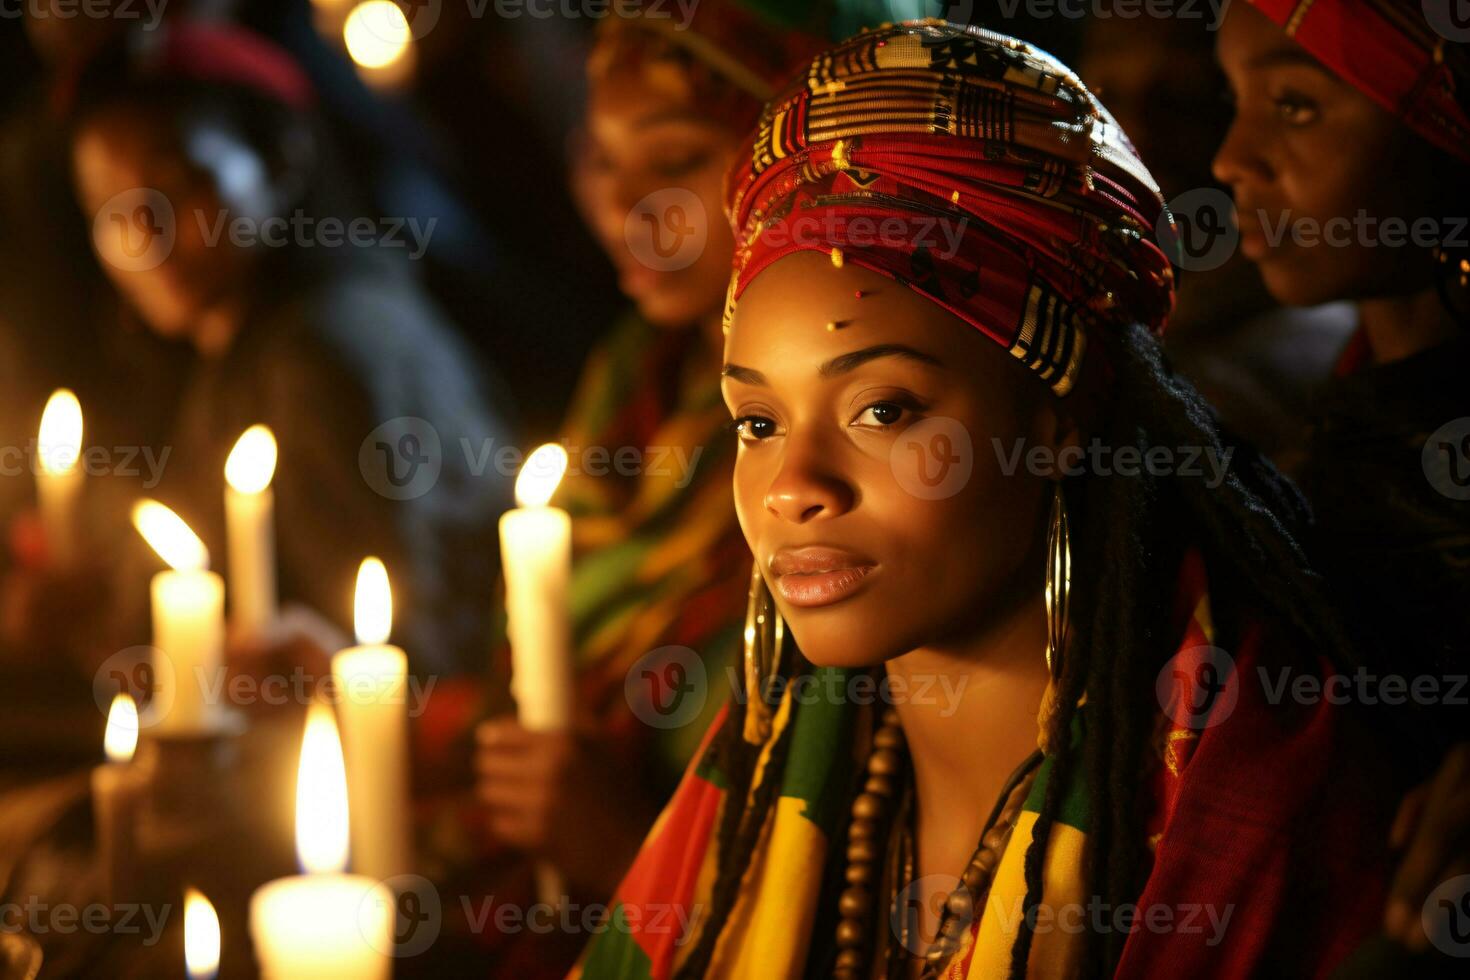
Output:
[[[1073,567],[1072,636],[1063,657],[1058,710],[1051,718],[1051,777],[1026,852],[1026,898],[1011,976],[1026,973],[1042,893],[1042,858],[1064,789],[1080,771],[1086,780],[1089,829],[1088,893],[1113,908],[1136,901],[1145,877],[1139,773],[1152,733],[1154,677],[1173,655],[1172,602],[1180,561],[1198,548],[1210,567],[1217,642],[1229,646],[1232,623],[1244,608],[1289,627],[1339,670],[1360,663],[1338,623],[1322,579],[1301,547],[1307,505],[1295,488],[1248,447],[1223,436],[1210,406],[1164,364],[1157,339],[1141,325],[1097,331],[1101,360],[1111,372],[1102,425],[1105,445],[1197,447],[1227,458],[1223,483],[1183,476],[1088,475],[1069,480]],[[1230,455],[1225,455],[1226,453]],[[1076,483],[1073,486],[1072,483]],[[1088,570],[1107,569],[1107,574]],[[794,658],[801,670],[804,663]],[[748,696],[754,696],[747,692]],[[1088,738],[1080,754],[1066,733],[1086,695]],[[728,777],[716,876],[704,927],[682,964],[681,979],[703,977],[779,786],[779,771],[795,726],[770,746],[770,763],[754,788],[761,746],[742,739],[744,702],[731,704],[713,746]],[[744,805],[742,805],[744,804]],[[1126,936],[1089,933],[1085,962],[1110,974]]]

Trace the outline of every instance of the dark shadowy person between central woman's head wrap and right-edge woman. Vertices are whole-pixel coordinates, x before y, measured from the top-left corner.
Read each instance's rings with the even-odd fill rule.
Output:
[[[1148,162],[1176,217],[1225,232],[1229,201],[1210,175],[1230,122],[1225,75],[1214,60],[1219,25],[1204,6],[1195,18],[1130,9],[1132,16],[1110,10],[1088,19],[1078,75]],[[1291,472],[1301,464],[1307,406],[1352,331],[1352,309],[1279,307],[1244,254],[1204,248],[1213,241],[1208,234],[1189,226],[1180,232],[1186,247],[1202,251],[1182,256],[1186,267],[1179,270],[1164,350],[1226,426]]]

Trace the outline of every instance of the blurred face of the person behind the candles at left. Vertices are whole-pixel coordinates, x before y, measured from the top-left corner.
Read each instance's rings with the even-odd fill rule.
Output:
[[[206,310],[243,288],[250,257],[220,229],[260,217],[245,201],[259,198],[251,185],[259,190],[265,166],[238,141],[197,129],[179,145],[160,122],[110,109],[78,129],[72,167],[93,251],[154,332],[188,336]],[[228,201],[222,185],[234,185]]]

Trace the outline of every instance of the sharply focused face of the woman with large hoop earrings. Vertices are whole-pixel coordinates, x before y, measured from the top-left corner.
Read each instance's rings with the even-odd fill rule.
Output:
[[[723,392],[739,523],[813,663],[954,646],[1035,595],[1051,483],[1025,466],[1007,476],[992,439],[1055,450],[1055,403],[970,325],[853,263],[795,253],[742,294]],[[911,426],[925,428],[906,441]],[[973,469],[931,498],[956,454]]]

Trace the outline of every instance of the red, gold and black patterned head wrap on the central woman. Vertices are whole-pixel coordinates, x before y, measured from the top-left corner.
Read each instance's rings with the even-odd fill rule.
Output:
[[[764,267],[831,251],[972,323],[1058,395],[1088,334],[1161,331],[1173,272],[1158,187],[1050,54],[942,21],[831,48],[766,106],[728,181],[735,303]]]

